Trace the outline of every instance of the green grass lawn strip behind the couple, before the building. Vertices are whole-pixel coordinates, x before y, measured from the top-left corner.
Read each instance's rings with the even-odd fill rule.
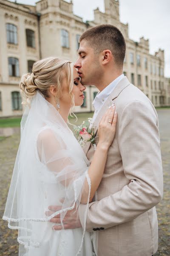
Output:
[[[78,121],[76,121],[76,118],[70,117],[69,120],[71,124],[79,125],[81,124],[85,119],[88,119],[88,117],[92,117],[93,113],[77,113],[76,114]],[[6,128],[6,127],[20,127],[21,117],[14,117],[14,118],[6,118],[6,119],[0,119],[0,128]]]

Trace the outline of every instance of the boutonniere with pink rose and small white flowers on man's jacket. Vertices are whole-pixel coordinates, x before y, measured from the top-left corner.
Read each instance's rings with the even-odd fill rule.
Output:
[[[85,143],[90,141],[96,149],[94,129],[95,125],[94,122],[92,122],[92,118],[88,118],[88,120],[74,128],[74,134],[82,147],[84,147]]]

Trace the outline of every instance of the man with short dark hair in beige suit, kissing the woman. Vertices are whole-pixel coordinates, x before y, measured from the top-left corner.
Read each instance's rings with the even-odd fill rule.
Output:
[[[158,116],[147,96],[122,74],[125,50],[119,29],[95,26],[80,37],[75,63],[82,84],[94,84],[100,91],[94,100],[96,126],[113,103],[118,113],[116,135],[86,222],[98,256],[152,256],[158,248],[155,206],[163,193]],[[91,162],[93,145],[88,142],[84,151]],[[85,207],[79,207],[80,221],[67,221],[65,228],[84,225]]]

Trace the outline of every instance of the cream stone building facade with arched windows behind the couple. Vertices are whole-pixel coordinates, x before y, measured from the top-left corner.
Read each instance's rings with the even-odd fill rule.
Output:
[[[83,22],[74,15],[73,3],[64,0],[40,0],[36,6],[0,0],[0,117],[23,113],[19,93],[20,76],[31,70],[40,58],[57,56],[76,61],[79,37],[88,28],[113,24],[123,33],[127,52],[124,73],[153,104],[170,105],[170,79],[164,77],[164,50],[149,53],[149,41],[134,42],[128,36],[128,24],[119,20],[119,0],[105,0],[105,13],[94,10],[94,20]],[[75,112],[93,111],[97,89],[89,86],[85,101]]]

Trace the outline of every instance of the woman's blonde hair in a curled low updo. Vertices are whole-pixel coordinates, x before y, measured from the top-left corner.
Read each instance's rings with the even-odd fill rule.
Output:
[[[62,96],[62,81],[66,77],[68,82],[68,93],[71,97],[71,110],[74,108],[74,94],[72,93],[74,85],[73,76],[74,65],[71,61],[55,57],[44,58],[34,63],[32,73],[27,73],[21,77],[20,89],[21,95],[25,99],[22,104],[30,103],[31,98],[39,90],[45,99],[49,97],[48,89],[53,84],[56,86],[56,102]]]

